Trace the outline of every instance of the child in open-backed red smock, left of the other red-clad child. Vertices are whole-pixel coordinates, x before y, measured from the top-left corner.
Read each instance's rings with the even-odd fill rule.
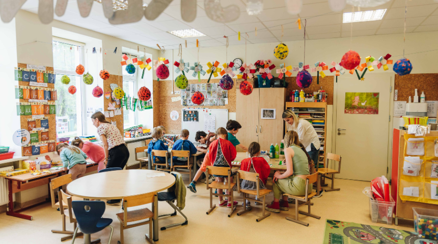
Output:
[[[229,167],[231,169],[231,161],[236,159],[237,151],[236,147],[233,146],[229,140],[227,140],[228,132],[225,128],[221,127],[216,130],[216,140],[211,142],[208,147],[209,153],[208,157],[210,161],[213,163],[215,167]],[[233,175],[233,174],[232,174]],[[224,182],[226,175],[213,175],[216,177],[217,182]],[[233,177],[231,177],[231,182],[233,182]],[[222,194],[222,189],[217,189],[218,194]],[[230,192],[227,190],[227,194]],[[227,207],[233,207],[237,205],[237,201],[233,201],[233,203],[229,203],[227,200],[223,200],[222,196],[219,196],[219,206],[223,207],[227,205]]]

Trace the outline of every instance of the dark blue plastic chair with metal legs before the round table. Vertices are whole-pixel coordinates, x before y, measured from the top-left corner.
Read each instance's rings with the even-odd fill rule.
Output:
[[[105,203],[101,201],[72,201],[71,204],[77,221],[77,227],[74,230],[71,243],[74,243],[78,229],[84,233],[85,243],[90,243],[91,234],[110,227],[111,234],[110,240],[108,241],[108,244],[110,244],[114,232],[113,226],[110,225],[113,219],[102,218],[105,212]],[[86,210],[86,208],[88,210]]]

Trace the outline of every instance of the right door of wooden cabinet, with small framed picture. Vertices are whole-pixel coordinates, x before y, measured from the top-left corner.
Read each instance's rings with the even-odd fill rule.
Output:
[[[283,139],[284,120],[282,113],[285,106],[286,88],[260,88],[260,110],[261,109],[275,109],[275,119],[262,119],[259,116],[259,143],[261,150],[269,150],[271,143],[280,145]]]

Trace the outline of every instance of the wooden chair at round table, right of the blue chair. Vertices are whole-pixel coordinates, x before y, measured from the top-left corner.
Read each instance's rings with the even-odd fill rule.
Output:
[[[149,210],[149,208],[145,207],[142,209],[132,210],[128,211],[128,207],[135,207],[140,206],[148,203],[154,203],[154,209],[153,212]],[[119,214],[116,214],[117,218],[120,221],[120,241],[118,243],[123,244],[123,230],[129,229],[132,227],[137,227],[141,225],[149,224],[149,235],[146,234],[146,239],[150,243],[154,243],[152,241],[152,222],[154,220],[154,213],[157,211],[158,207],[158,200],[157,195],[155,192],[137,195],[137,196],[130,196],[130,197],[124,197],[123,198],[123,212],[120,212]],[[141,221],[149,219],[148,221],[138,222],[135,224],[128,225],[128,222],[133,221]]]

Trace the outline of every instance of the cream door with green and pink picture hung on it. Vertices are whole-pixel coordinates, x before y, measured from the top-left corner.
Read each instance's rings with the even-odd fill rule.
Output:
[[[337,177],[371,181],[387,175],[391,76],[344,77],[337,85],[335,150],[342,157]],[[376,111],[377,101],[378,114],[368,114]]]

